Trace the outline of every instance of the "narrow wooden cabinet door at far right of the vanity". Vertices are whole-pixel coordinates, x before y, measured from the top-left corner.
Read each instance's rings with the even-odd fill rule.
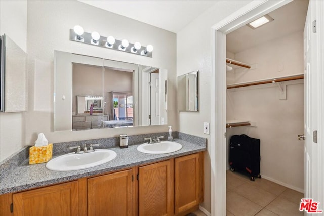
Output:
[[[199,154],[175,159],[175,213],[199,205]]]

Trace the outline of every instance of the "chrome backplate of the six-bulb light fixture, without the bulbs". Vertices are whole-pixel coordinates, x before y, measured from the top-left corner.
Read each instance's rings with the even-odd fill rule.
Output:
[[[133,47],[134,44],[129,43],[129,46],[123,50],[120,50],[119,45],[121,45],[121,40],[115,40],[115,43],[112,46],[108,46],[107,45],[107,37],[103,37],[100,36],[100,39],[98,40],[98,44],[94,44],[92,42],[92,37],[91,37],[91,33],[87,33],[84,32],[82,35],[82,39],[79,40],[77,38],[76,33],[74,32],[73,29],[70,29],[70,40],[72,41],[76,41],[76,42],[82,42],[83,44],[89,44],[89,45],[93,45],[93,46],[97,46],[97,47],[103,47],[103,48],[107,48],[107,49],[113,49],[113,50],[118,50],[118,51],[123,51],[123,52],[127,52],[127,53],[133,53],[133,54],[137,54],[137,55],[141,55],[141,56],[147,56],[147,57],[151,57],[153,56],[153,52],[147,52],[147,54],[145,54],[145,50],[146,47],[141,47],[141,49],[137,50],[136,52],[134,52]]]

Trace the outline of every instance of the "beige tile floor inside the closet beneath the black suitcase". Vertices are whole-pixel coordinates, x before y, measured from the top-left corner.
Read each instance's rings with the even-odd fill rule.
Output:
[[[227,216],[296,216],[303,194],[266,179],[250,181],[248,176],[226,172]]]

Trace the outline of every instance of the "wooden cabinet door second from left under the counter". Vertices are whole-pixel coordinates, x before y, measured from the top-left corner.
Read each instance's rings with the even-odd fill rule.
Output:
[[[88,179],[88,216],[133,215],[132,169]]]

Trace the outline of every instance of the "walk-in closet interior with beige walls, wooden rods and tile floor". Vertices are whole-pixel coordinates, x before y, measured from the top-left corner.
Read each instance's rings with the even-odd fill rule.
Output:
[[[307,7],[308,1],[292,1],[268,13],[273,19],[269,23],[259,28],[246,25],[226,35],[227,161],[232,135],[260,139],[261,156],[261,179],[254,182],[231,172],[227,163],[227,215],[279,215],[273,203],[287,201],[294,209],[302,198],[304,145],[298,135],[304,131]],[[243,189],[239,188],[242,184],[246,184]],[[249,187],[257,191],[254,198],[244,189]],[[235,195],[256,204],[251,207],[255,210],[244,213],[242,209],[237,214],[229,201]],[[296,210],[294,215],[301,213]]]

